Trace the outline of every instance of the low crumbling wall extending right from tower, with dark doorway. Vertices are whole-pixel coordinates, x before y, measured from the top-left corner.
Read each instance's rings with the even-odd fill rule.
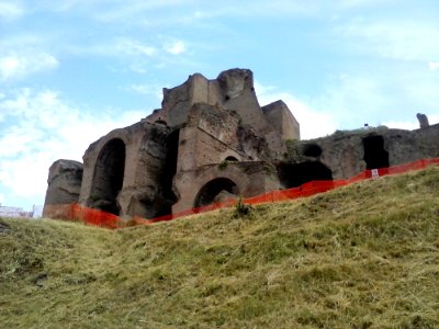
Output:
[[[439,125],[416,131],[364,128],[290,144],[291,163],[319,161],[334,179],[348,179],[365,169],[380,169],[439,157]]]

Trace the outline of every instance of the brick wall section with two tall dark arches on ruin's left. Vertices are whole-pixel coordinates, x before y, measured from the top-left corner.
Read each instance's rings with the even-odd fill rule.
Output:
[[[122,217],[167,214],[177,196],[178,129],[140,122],[115,129],[86,151],[80,203]]]

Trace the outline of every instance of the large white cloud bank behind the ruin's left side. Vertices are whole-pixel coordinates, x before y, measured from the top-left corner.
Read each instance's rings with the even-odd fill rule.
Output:
[[[81,161],[88,146],[110,131],[134,124],[144,111],[93,113],[54,91],[23,89],[0,101],[8,127],[0,132],[0,190],[12,197],[44,201],[49,166],[57,159]],[[117,114],[117,115],[116,115]],[[23,205],[21,205],[23,206]]]

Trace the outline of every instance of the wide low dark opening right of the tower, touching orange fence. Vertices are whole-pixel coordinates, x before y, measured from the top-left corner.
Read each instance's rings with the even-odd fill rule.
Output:
[[[285,189],[297,188],[311,181],[331,181],[333,172],[319,161],[280,163],[279,180]]]

